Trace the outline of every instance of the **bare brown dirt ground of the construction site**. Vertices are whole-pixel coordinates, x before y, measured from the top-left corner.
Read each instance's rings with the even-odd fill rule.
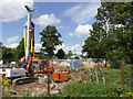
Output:
[[[48,74],[41,74],[41,78],[43,78],[44,76],[47,76]],[[68,84],[73,84],[73,82],[81,82],[83,80],[86,80],[89,77],[89,72],[86,69],[82,69],[82,70],[71,70],[69,72],[69,80],[68,81],[61,81],[61,82],[54,82],[53,80],[51,80],[50,84],[50,94],[58,94],[59,89],[62,89],[64,86],[66,86]],[[6,88],[4,91],[7,94],[10,92],[11,96],[22,96],[22,97],[27,97],[27,96],[39,96],[47,94],[47,82],[39,82],[39,79],[35,79],[32,82],[29,84],[22,84],[22,85],[11,85],[10,89]],[[50,79],[52,79],[52,74],[50,74]]]

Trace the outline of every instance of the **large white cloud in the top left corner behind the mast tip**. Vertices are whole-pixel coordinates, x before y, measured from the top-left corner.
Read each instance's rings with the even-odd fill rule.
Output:
[[[32,7],[33,0],[0,0],[0,16],[3,22],[18,21],[27,15],[24,6]]]

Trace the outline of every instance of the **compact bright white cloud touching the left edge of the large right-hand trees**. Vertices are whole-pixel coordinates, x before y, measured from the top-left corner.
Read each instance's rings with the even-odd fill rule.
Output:
[[[74,33],[70,33],[70,36],[76,35],[81,37],[90,36],[90,30],[92,30],[92,25],[85,24],[85,25],[79,25],[75,28]]]

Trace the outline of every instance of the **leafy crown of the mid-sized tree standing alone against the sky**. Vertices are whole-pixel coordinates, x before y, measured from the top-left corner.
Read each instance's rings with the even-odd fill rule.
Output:
[[[58,32],[55,26],[48,25],[42,32],[40,32],[42,48],[41,51],[49,54],[49,57],[54,55],[55,47],[58,45],[61,45],[62,42],[59,40],[61,37],[61,34]]]

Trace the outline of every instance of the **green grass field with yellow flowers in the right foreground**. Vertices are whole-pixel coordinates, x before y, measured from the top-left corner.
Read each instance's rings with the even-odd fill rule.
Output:
[[[121,84],[121,69],[102,68],[105,78],[103,85],[100,72],[95,68],[99,75],[99,82],[93,74],[93,82],[90,82],[90,77],[86,82],[71,84],[61,90],[58,95],[51,97],[133,97],[131,86],[124,86],[124,91]],[[131,84],[131,65],[124,66],[124,84]]]

